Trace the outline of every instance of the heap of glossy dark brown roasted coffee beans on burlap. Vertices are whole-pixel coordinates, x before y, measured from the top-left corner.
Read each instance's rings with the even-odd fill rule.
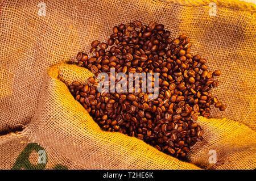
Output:
[[[159,73],[157,98],[148,99],[151,93],[141,89],[99,92],[93,77],[87,85],[73,82],[69,90],[105,131],[135,136],[164,153],[185,158],[190,147],[203,139],[197,117],[209,117],[213,104],[220,111],[226,106],[210,93],[218,86],[214,77],[221,72],[208,70],[205,58],[190,53],[189,37],[171,39],[170,34],[163,24],[146,26],[137,20],[115,26],[107,43],[93,41],[94,56],[77,54],[77,64],[95,75],[109,73],[110,68],[127,77],[135,72]]]

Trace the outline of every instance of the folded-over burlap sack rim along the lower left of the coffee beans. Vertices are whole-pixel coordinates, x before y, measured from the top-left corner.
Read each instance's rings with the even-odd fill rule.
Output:
[[[85,169],[198,169],[135,137],[102,131],[65,85],[86,80],[89,70],[61,64],[48,72],[38,110],[26,129],[33,142],[54,145]]]

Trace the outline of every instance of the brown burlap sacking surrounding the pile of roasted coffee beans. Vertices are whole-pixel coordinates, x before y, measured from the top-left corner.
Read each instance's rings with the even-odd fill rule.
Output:
[[[0,132],[25,129],[1,136],[1,169],[255,169],[256,7],[213,2],[216,16],[209,16],[209,1],[44,1],[46,16],[40,1],[2,2]],[[213,109],[212,116],[226,119],[200,117],[205,139],[188,155],[199,167],[137,138],[101,131],[66,86],[85,82],[89,71],[60,64],[46,73],[89,50],[92,40],[105,41],[116,24],[135,19],[163,23],[172,37],[186,33],[192,53],[222,71],[213,94],[228,109]],[[217,163],[209,161],[212,150]]]

